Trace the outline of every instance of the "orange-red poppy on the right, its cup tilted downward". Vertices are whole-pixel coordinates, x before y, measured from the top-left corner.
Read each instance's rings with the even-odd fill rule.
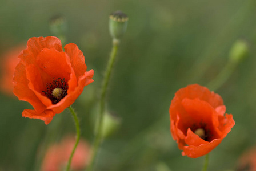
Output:
[[[235,125],[224,113],[221,96],[192,84],[179,89],[170,105],[170,129],[182,155],[201,157],[213,150]]]

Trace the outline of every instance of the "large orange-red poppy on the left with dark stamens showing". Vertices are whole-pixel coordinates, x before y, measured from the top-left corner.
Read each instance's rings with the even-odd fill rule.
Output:
[[[94,71],[86,71],[85,58],[77,45],[69,43],[64,49],[56,37],[39,37],[30,38],[19,54],[13,92],[34,107],[25,109],[23,117],[49,124],[56,113],[74,103],[83,87],[93,82]]]

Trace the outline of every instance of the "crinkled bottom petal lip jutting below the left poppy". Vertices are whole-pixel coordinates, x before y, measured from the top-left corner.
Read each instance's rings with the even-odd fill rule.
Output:
[[[23,117],[29,117],[33,119],[41,119],[45,121],[45,124],[49,124],[55,114],[51,110],[45,110],[41,114],[38,114],[35,110],[25,109],[22,112]]]

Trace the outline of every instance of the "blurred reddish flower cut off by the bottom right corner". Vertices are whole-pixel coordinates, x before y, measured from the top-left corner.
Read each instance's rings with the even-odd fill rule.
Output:
[[[246,150],[239,158],[237,171],[256,171],[256,148]]]

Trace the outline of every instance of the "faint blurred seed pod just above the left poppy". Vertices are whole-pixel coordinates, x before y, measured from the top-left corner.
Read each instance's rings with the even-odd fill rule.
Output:
[[[49,27],[51,34],[57,36],[63,44],[66,42],[65,33],[67,31],[67,22],[66,19],[61,15],[55,15],[50,19]]]

